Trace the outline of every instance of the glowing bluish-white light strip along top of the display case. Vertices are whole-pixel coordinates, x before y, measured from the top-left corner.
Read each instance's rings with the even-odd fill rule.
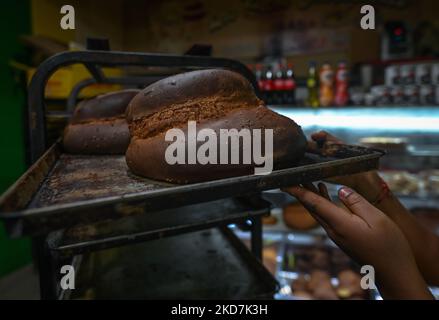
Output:
[[[353,129],[381,129],[388,131],[429,131],[439,132],[439,117],[416,115],[385,115],[385,114],[327,114],[307,113],[295,110],[276,109],[276,112],[293,119],[303,128],[353,128]]]

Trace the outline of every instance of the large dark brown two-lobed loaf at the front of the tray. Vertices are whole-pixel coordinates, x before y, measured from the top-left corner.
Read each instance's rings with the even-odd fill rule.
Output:
[[[254,173],[254,163],[168,164],[165,151],[172,142],[165,141],[166,132],[180,128],[187,137],[189,120],[196,121],[197,131],[209,128],[218,137],[220,129],[273,129],[275,168],[294,165],[305,152],[300,126],[266,108],[251,84],[232,71],[192,71],[160,80],[131,100],[126,115],[131,132],[127,164],[151,179],[192,183]]]

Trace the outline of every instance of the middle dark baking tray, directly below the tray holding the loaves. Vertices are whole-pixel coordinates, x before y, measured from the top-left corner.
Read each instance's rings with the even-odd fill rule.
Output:
[[[48,248],[58,257],[70,257],[128,243],[193,232],[213,226],[227,226],[269,214],[270,203],[260,198],[229,198],[178,209],[105,220],[52,232]]]

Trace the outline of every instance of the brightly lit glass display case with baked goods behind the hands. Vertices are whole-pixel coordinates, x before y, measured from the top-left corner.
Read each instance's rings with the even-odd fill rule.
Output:
[[[325,130],[348,144],[367,144],[386,150],[380,174],[416,218],[439,234],[439,108],[271,108],[300,124],[308,137],[315,131]],[[333,199],[337,199],[339,187],[328,185]],[[265,192],[264,197],[274,207],[270,222],[263,229],[264,259],[267,260],[264,263],[270,264],[271,272],[281,285],[277,299],[325,296],[381,299],[376,290],[361,297],[347,295],[339,277],[350,273],[359,279],[359,267],[337,248],[318,224],[300,229],[303,224],[294,228],[286,223],[285,209],[295,204],[292,196],[271,190]],[[301,289],[303,281],[319,276],[316,270],[329,277],[333,289],[319,289],[323,294],[319,297],[307,295]],[[437,288],[431,291],[438,296]]]

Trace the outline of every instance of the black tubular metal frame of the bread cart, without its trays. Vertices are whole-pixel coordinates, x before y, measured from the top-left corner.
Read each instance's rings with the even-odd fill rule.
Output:
[[[73,88],[67,102],[67,114],[71,112],[76,105],[80,91],[89,85],[95,83],[145,85],[148,84],[148,82],[151,82],[151,79],[143,77],[106,77],[102,71],[102,67],[173,67],[186,70],[200,68],[223,68],[242,74],[252,83],[255,91],[258,92],[256,79],[253,73],[242,63],[230,59],[205,56],[179,56],[112,51],[77,51],[60,53],[50,57],[38,67],[29,85],[28,121],[30,164],[35,163],[48,148],[46,143],[46,106],[44,98],[47,81],[57,69],[78,63],[84,65],[92,77],[77,83]],[[253,255],[259,260],[261,260],[262,257],[262,214],[264,213],[261,212],[259,215],[252,216],[250,218],[251,225],[249,225],[249,231],[251,232],[251,250]],[[238,220],[246,221],[247,218]],[[215,225],[225,227],[221,221]],[[198,229],[211,228],[213,226],[214,225],[206,224],[198,226]],[[191,231],[193,231],[193,229],[188,228],[187,230],[182,230],[181,232]],[[55,271],[61,265],[61,263],[65,262],[68,258],[60,257],[58,253],[54,253],[51,250],[51,243],[53,243],[56,236],[57,235],[55,232],[52,234],[37,236],[33,239],[33,244],[36,249],[35,252],[39,269],[40,293],[42,299],[56,299],[60,296]],[[133,242],[135,242],[134,239]],[[72,256],[70,258],[70,263],[80,263],[78,256]]]

